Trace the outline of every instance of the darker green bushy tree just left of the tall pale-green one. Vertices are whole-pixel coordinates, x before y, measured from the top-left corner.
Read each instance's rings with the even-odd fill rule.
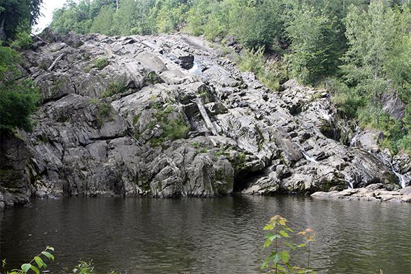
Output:
[[[315,84],[336,73],[343,47],[339,40],[338,19],[328,14],[329,2],[318,10],[302,5],[293,12],[287,27],[292,53],[287,55],[290,75],[304,84]]]

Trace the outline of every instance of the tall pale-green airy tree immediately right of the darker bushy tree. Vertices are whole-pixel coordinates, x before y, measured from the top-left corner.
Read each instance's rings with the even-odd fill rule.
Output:
[[[395,14],[385,1],[375,0],[368,10],[349,7],[345,18],[349,49],[342,66],[350,86],[357,86],[361,96],[381,95],[387,88],[384,65],[395,37]]]

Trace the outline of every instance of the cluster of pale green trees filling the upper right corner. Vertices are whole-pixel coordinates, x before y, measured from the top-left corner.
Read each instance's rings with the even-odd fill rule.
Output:
[[[344,23],[349,49],[341,69],[346,86],[344,92],[336,93],[334,103],[356,117],[362,127],[381,130],[382,147],[392,153],[410,151],[409,5],[390,8],[382,0],[372,1],[363,10],[351,5]],[[395,92],[406,103],[402,123],[382,111],[379,97],[383,92]]]

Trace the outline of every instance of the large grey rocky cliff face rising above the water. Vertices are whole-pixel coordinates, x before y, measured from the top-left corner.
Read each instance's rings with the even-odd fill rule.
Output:
[[[326,90],[290,80],[272,92],[199,38],[41,37],[23,53],[41,87],[38,125],[2,140],[2,158],[16,149],[8,142],[25,151],[18,167],[2,165],[3,206],[12,191],[213,197],[410,184],[408,155],[392,159],[375,145],[384,136],[338,119]],[[11,172],[19,186],[5,184]]]

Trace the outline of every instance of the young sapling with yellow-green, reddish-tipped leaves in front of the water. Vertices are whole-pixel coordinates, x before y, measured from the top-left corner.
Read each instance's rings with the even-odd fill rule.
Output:
[[[281,242],[282,238],[290,238],[289,233],[293,232],[289,227],[286,226],[287,220],[282,216],[275,215],[269,223],[264,226],[263,230],[275,231],[275,233],[270,232],[265,236],[267,239],[264,242],[263,249],[274,245],[274,250],[271,251],[269,257],[264,260],[264,263],[261,265],[261,269],[269,269],[269,273],[315,273],[310,268],[310,242],[314,241],[314,232],[311,228],[307,228],[305,232],[299,232],[307,236],[306,243],[301,245],[292,245],[288,242]],[[291,266],[290,265],[290,254],[286,250],[279,250],[280,248],[286,246],[290,249],[297,250],[297,248],[306,247],[308,244],[308,267],[303,269],[301,267]],[[271,262],[272,261],[272,262]],[[270,263],[271,262],[271,263]],[[270,265],[272,264],[272,265]]]

